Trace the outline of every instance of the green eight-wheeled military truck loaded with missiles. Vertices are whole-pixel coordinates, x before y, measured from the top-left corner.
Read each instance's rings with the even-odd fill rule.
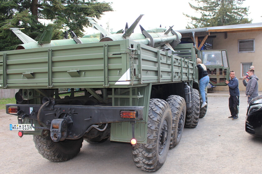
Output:
[[[16,104],[6,105],[6,113],[18,118],[10,130],[19,137],[33,135],[39,153],[50,161],[72,159],[83,140],[110,138],[131,143],[136,167],[158,170],[183,128],[195,128],[206,114],[207,106],[200,108],[196,57],[203,62],[214,57],[193,44],[178,44],[181,35],[168,30],[141,27],[142,35],[127,29],[108,36],[100,29],[100,41],[81,43],[75,37],[74,44],[60,46],[44,45],[61,43],[44,35],[39,43],[27,38],[16,50],[0,52],[1,87],[19,89]],[[211,63],[208,71],[212,82],[224,85],[227,55],[215,53],[218,65]]]

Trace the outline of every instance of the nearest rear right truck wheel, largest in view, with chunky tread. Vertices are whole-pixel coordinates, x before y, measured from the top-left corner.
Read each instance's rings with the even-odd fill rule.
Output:
[[[164,164],[172,133],[172,113],[162,99],[150,99],[147,121],[147,143],[132,148],[136,167],[153,172]]]

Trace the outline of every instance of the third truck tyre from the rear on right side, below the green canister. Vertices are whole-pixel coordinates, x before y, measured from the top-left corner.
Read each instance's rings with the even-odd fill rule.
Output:
[[[187,110],[186,128],[195,128],[198,125],[200,113],[200,96],[197,89],[192,89],[192,108]]]

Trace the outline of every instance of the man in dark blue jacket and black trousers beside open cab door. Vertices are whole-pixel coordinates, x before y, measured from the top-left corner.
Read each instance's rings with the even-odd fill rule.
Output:
[[[235,72],[230,71],[230,79],[226,80],[226,84],[229,86],[229,110],[232,120],[238,119],[239,113],[239,88],[238,88],[238,79],[235,77]]]

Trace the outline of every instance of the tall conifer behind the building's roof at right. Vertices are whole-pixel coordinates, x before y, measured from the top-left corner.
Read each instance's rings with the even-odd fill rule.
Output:
[[[201,13],[201,17],[190,17],[192,22],[186,27],[188,28],[203,28],[223,25],[235,25],[251,23],[246,16],[248,15],[249,7],[241,7],[245,0],[194,0],[198,5],[194,6],[189,3],[189,6],[196,12]]]

